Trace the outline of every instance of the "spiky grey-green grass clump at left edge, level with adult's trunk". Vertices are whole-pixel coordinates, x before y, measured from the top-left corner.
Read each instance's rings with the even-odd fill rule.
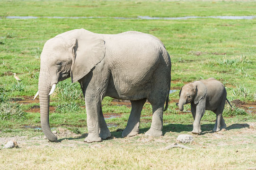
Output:
[[[24,118],[25,114],[26,112],[21,109],[18,103],[0,103],[0,119],[2,120]]]

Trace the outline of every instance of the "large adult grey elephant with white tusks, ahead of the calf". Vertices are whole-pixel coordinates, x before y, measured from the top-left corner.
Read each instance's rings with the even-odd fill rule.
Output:
[[[49,92],[53,84],[69,77],[72,82],[79,82],[85,98],[88,126],[85,142],[99,142],[111,136],[101,108],[105,96],[132,102],[131,115],[122,136],[139,133],[146,99],[152,105],[153,118],[145,135],[163,135],[171,60],[158,38],[134,31],[95,34],[76,29],[59,34],[44,44],[40,67],[41,126],[51,142],[57,142],[57,137],[49,126]]]

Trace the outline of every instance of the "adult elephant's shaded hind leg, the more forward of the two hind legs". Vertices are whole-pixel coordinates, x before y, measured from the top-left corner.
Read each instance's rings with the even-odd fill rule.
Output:
[[[122,137],[130,137],[139,134],[141,110],[145,102],[146,99],[142,99],[139,101],[131,101],[132,110],[127,122],[127,126],[122,132]]]

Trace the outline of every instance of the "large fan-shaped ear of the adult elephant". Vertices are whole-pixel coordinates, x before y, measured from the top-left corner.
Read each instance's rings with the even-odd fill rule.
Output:
[[[72,53],[72,83],[87,75],[105,57],[105,41],[100,34],[79,29],[76,33]]]

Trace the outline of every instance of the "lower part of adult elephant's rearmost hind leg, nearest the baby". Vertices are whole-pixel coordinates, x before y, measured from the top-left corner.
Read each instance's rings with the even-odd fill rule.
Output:
[[[152,104],[153,117],[150,129],[145,133],[146,136],[163,136],[163,106]]]

